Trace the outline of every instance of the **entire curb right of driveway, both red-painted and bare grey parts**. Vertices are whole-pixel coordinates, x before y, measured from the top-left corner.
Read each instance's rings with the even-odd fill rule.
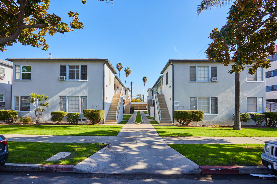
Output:
[[[202,174],[274,174],[265,166],[199,166]]]

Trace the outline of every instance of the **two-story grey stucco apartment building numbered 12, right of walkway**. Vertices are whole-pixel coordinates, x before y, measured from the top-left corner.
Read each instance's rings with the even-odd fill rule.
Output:
[[[204,111],[200,125],[234,124],[235,74],[230,67],[209,60],[169,60],[161,76],[148,89],[148,107],[155,106],[155,120],[178,124],[175,110]],[[265,111],[265,70],[255,75],[241,71],[240,112]],[[174,120],[173,120],[174,119]],[[254,124],[252,120],[242,125]]]

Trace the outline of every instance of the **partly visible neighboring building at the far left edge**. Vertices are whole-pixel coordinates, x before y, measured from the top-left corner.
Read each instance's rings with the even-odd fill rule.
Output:
[[[12,63],[0,59],[0,109],[11,109]]]

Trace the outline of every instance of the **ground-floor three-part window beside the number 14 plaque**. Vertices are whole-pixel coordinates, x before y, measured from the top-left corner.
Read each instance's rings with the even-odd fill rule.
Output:
[[[83,113],[87,109],[86,96],[60,96],[59,98],[59,111],[67,113]]]

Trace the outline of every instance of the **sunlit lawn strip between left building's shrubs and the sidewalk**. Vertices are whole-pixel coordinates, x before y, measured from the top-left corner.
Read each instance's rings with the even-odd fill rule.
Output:
[[[1,134],[116,136],[118,125],[0,125]]]

